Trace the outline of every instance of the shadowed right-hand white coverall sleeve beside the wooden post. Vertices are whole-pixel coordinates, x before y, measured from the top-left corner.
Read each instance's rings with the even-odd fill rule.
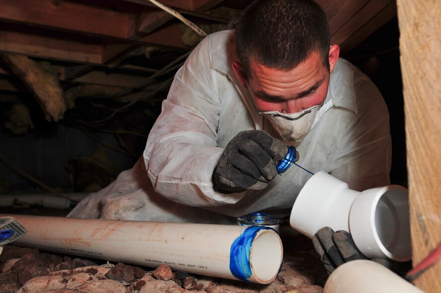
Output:
[[[390,184],[389,113],[379,90],[367,77],[354,77],[358,112],[348,114],[341,147],[335,150],[331,175],[363,191]]]

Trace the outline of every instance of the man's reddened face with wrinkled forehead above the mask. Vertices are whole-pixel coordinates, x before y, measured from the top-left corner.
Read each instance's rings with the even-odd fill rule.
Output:
[[[338,46],[336,47],[339,51]],[[332,72],[336,60],[331,60],[331,50]],[[330,71],[323,65],[318,52],[311,53],[303,63],[290,71],[280,71],[254,63],[247,79],[239,76],[259,112],[281,113],[296,113],[323,103],[328,92],[329,77]]]

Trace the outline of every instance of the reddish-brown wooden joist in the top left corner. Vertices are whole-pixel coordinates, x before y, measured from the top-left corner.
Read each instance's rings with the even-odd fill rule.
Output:
[[[105,1],[0,0],[0,19],[91,35],[127,37],[127,14]]]

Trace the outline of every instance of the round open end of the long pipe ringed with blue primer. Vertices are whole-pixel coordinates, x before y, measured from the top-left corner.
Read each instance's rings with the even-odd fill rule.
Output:
[[[262,284],[276,279],[283,259],[282,241],[274,230],[261,230],[254,238],[250,251],[253,277]]]

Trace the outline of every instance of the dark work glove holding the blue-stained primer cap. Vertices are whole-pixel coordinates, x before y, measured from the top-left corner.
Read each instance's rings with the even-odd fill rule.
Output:
[[[213,172],[213,188],[221,193],[264,189],[278,174],[288,147],[262,130],[239,132],[225,147]]]

